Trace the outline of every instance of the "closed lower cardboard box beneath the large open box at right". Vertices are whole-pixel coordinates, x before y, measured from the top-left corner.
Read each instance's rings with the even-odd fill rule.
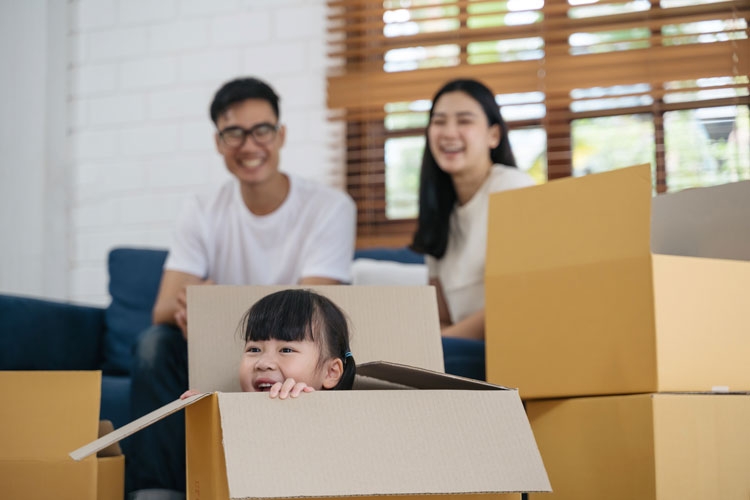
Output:
[[[526,402],[554,500],[750,498],[750,395]]]

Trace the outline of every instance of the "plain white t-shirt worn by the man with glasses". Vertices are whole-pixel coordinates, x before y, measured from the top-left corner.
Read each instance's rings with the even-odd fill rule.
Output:
[[[293,285],[311,276],[349,282],[354,202],[331,187],[286,175],[289,193],[267,215],[250,212],[236,179],[191,197],[164,269],[220,285]]]

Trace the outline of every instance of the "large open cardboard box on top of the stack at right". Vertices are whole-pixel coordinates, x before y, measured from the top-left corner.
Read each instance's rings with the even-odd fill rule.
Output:
[[[487,380],[523,399],[750,390],[750,182],[648,165],[490,198]]]

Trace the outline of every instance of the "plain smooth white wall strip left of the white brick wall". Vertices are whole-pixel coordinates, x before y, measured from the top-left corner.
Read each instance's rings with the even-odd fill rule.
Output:
[[[68,290],[64,0],[0,2],[0,292]]]

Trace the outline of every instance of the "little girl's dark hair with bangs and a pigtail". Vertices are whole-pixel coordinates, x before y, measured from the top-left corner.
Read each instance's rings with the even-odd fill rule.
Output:
[[[312,290],[292,289],[266,295],[242,318],[245,342],[312,340],[320,346],[321,362],[340,358],[344,372],[332,390],[351,389],[357,371],[349,348],[346,316],[330,299]]]

